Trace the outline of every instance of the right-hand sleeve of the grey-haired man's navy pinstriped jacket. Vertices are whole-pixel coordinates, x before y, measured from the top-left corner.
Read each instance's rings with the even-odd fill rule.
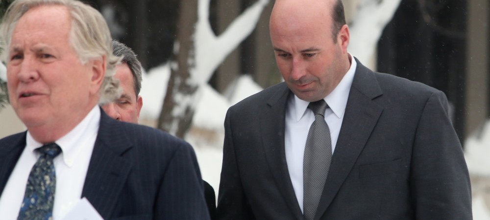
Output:
[[[209,220],[196,155],[189,144],[182,143],[167,165],[153,219]]]

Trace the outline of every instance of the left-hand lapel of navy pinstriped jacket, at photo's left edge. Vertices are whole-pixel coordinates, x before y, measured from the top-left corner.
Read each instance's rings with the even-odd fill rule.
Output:
[[[0,195],[25,148],[27,132],[9,136],[8,141],[0,143]],[[3,139],[6,140],[6,139]]]

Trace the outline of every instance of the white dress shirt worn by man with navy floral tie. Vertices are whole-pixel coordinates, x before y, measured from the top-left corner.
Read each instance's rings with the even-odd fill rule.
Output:
[[[53,219],[64,217],[80,200],[85,176],[94,150],[100,122],[100,109],[96,105],[69,133],[55,141],[62,153],[53,160],[56,170]],[[43,146],[27,132],[26,146],[0,197],[0,219],[16,220],[19,215],[25,186],[32,166],[41,154],[34,151]]]

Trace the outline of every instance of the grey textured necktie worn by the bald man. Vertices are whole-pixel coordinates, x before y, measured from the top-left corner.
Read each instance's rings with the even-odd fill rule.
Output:
[[[311,102],[308,108],[315,113],[315,121],[308,132],[303,156],[303,216],[313,220],[330,169],[332,142],[324,116],[327,103],[320,99]]]

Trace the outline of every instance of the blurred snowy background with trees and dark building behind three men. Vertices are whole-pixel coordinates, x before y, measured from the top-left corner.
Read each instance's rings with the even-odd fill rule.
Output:
[[[0,15],[12,0],[0,0]],[[241,99],[282,81],[270,44],[273,0],[86,0],[138,54],[142,124],[190,142],[218,192],[223,121]],[[343,0],[349,52],[373,70],[443,91],[463,144],[474,215],[490,220],[490,0]],[[0,137],[25,127],[0,65]]]

